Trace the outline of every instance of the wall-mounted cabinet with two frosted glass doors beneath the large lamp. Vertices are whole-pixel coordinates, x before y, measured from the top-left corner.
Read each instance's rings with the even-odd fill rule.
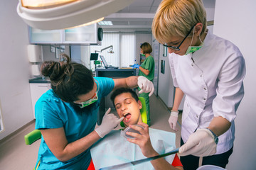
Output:
[[[63,30],[39,30],[28,26],[31,44],[101,45],[102,28],[97,23]]]

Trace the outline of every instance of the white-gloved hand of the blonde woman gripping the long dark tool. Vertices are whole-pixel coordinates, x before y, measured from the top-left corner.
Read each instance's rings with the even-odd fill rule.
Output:
[[[193,154],[197,157],[206,157],[216,153],[216,143],[213,134],[208,129],[198,129],[188,141],[178,149],[181,156]]]

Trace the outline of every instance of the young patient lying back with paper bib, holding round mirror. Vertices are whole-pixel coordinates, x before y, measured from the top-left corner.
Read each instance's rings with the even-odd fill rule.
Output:
[[[127,132],[134,139],[126,139],[118,130],[113,130],[103,140],[95,144],[91,149],[92,161],[95,169],[106,166],[131,162],[146,157],[154,157],[175,149],[175,135],[163,130],[149,129],[146,123],[142,123],[140,109],[142,102],[135,91],[120,88],[113,91],[111,100],[119,117],[124,117],[125,128],[129,127],[139,131]],[[140,125],[141,127],[137,126]],[[135,144],[135,145],[134,145]],[[183,169],[178,156],[170,155],[165,158],[152,160],[127,169]]]

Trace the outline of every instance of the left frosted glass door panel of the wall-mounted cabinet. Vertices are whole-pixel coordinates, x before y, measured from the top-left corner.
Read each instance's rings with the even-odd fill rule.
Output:
[[[46,42],[55,42],[60,43],[61,40],[61,31],[62,30],[39,30],[36,28],[31,29],[31,43],[46,43]]]

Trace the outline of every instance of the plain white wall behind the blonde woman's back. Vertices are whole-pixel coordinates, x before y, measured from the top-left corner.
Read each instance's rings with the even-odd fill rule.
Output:
[[[255,0],[217,0],[213,33],[240,48],[245,57],[245,97],[235,119],[235,144],[227,169],[255,169],[256,166],[256,101],[255,101]]]

